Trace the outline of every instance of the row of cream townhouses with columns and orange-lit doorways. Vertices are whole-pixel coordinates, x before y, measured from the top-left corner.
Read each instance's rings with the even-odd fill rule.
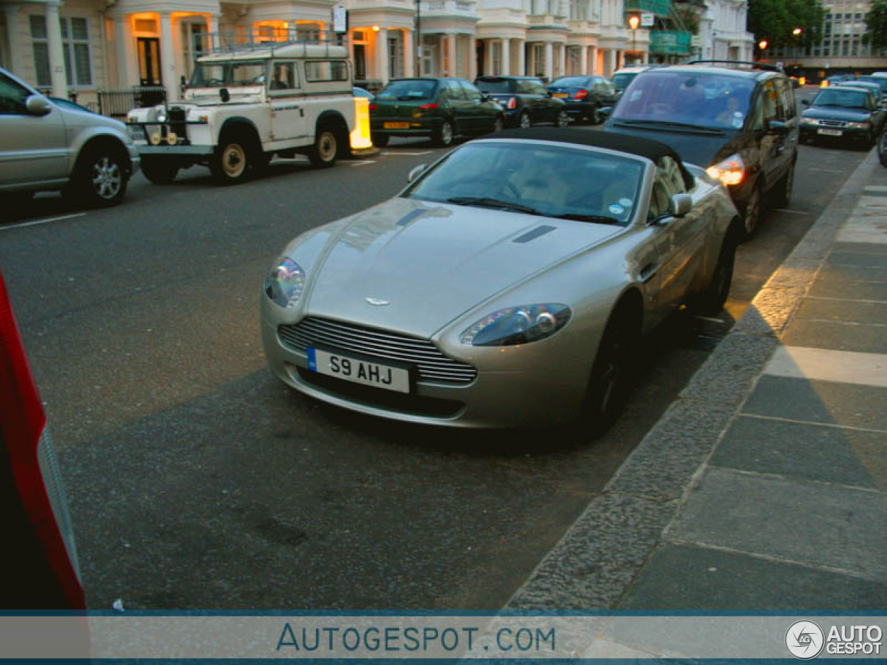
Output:
[[[135,86],[176,100],[208,35],[336,39],[337,6],[355,80],[371,87],[412,75],[609,76],[648,61],[648,30],[628,27],[623,0],[0,0],[0,66],[87,105]]]

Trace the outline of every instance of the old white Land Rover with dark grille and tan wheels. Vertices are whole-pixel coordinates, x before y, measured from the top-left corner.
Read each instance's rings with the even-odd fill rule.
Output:
[[[315,41],[216,50],[197,60],[182,103],[135,108],[127,122],[155,184],[193,164],[239,183],[272,155],[331,167],[349,154],[355,127],[348,49]]]

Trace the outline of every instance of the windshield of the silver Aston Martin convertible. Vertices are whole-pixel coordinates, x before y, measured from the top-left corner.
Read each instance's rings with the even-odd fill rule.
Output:
[[[483,142],[450,153],[404,196],[530,215],[625,225],[644,162],[560,145]]]

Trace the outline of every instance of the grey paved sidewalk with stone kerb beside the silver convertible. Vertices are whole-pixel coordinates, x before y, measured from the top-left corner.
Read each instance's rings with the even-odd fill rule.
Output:
[[[508,607],[887,608],[875,151]]]

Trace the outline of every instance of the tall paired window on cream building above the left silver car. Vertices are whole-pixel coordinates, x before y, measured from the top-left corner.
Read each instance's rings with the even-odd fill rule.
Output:
[[[45,16],[31,16],[31,43],[34,49],[34,64],[37,71],[37,85],[52,85],[50,70],[49,34]],[[90,31],[86,19],[59,19],[61,24],[62,54],[65,58],[65,76],[72,88],[92,85],[92,62],[90,59]]]

